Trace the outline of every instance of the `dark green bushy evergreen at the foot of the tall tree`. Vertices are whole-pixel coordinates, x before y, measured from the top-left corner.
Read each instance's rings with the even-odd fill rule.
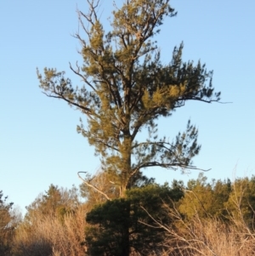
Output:
[[[172,204],[183,194],[181,188],[167,184],[147,185],[127,191],[126,198],[115,199],[96,206],[87,214],[91,226],[86,232],[89,255],[141,255],[151,253],[164,239],[164,230],[153,226],[155,219],[166,225],[171,219],[164,204]]]

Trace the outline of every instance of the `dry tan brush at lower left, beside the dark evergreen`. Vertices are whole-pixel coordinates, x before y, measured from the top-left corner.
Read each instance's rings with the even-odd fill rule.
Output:
[[[48,216],[38,218],[32,226],[21,225],[15,237],[14,255],[83,256],[85,225],[82,207],[65,216],[62,222]]]

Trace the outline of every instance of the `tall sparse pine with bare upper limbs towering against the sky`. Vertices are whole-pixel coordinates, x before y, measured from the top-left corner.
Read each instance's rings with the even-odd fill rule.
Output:
[[[152,39],[165,17],[176,12],[170,0],[126,0],[112,12],[111,31],[105,32],[97,16],[99,0],[88,0],[89,11],[78,11],[87,37],[82,43],[83,65],[71,70],[84,85],[74,88],[64,71],[37,71],[40,88],[48,97],[64,100],[87,117],[77,127],[101,156],[102,168],[120,189],[120,196],[149,167],[195,168],[193,156],[201,146],[198,131],[188,122],[173,141],[157,137],[157,119],[170,117],[188,100],[218,101],[212,88],[212,71],[205,65],[182,60],[183,43],[173,49],[169,64]],[[88,26],[85,24],[88,23]],[[138,135],[148,130],[140,141]]]

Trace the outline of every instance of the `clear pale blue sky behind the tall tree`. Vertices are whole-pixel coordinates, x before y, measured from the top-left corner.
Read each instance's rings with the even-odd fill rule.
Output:
[[[116,0],[116,3],[122,3]],[[255,2],[254,0],[171,1],[178,11],[168,18],[156,37],[162,62],[171,60],[173,47],[184,42],[184,60],[201,60],[213,70],[213,86],[222,101],[190,102],[159,122],[159,135],[174,138],[188,119],[199,128],[201,153],[194,163],[212,168],[209,179],[255,174]],[[99,157],[77,134],[80,112],[64,102],[47,98],[38,88],[36,68],[66,71],[81,56],[72,37],[78,29],[76,9],[86,12],[85,0],[0,2],[0,191],[23,212],[50,184],[79,185],[78,171],[94,173]],[[109,30],[112,1],[102,0],[101,19]],[[84,117],[85,118],[85,117]],[[196,178],[152,168],[144,174],[163,183]]]

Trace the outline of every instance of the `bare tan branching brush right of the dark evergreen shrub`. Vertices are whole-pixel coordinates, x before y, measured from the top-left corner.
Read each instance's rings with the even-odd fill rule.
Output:
[[[236,195],[235,186],[233,189]],[[234,196],[235,214],[229,212],[229,221],[213,217],[201,219],[198,213],[191,220],[185,220],[178,208],[169,208],[165,205],[173,223],[167,226],[154,219],[157,227],[166,231],[166,238],[161,244],[164,248],[162,252],[151,256],[255,255],[255,230],[251,225],[247,225],[243,218],[241,200],[240,196]],[[150,218],[153,219],[152,216]]]

